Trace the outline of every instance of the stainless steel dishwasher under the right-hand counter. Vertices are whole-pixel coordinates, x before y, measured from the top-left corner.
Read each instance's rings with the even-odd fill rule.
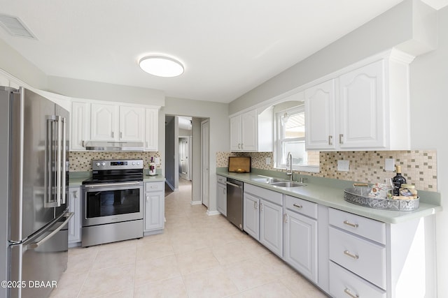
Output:
[[[243,182],[228,178],[227,219],[239,230],[243,230]]]

